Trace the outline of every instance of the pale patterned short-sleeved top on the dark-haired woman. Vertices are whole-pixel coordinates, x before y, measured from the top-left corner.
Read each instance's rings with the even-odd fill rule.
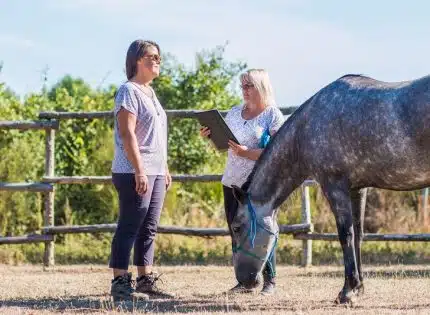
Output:
[[[135,134],[146,175],[165,175],[167,165],[167,116],[155,92],[146,95],[133,82],[120,86],[115,97],[115,154],[112,161],[113,173],[134,173],[128,160],[118,129],[117,114],[121,108],[137,117]]]

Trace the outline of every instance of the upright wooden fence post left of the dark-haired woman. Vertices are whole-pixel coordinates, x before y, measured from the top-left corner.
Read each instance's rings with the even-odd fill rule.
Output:
[[[46,129],[45,136],[45,176],[54,176],[54,162],[55,162],[55,130]],[[44,195],[44,227],[54,225],[54,195],[55,188],[52,192],[47,192]],[[51,267],[55,264],[54,257],[54,241],[45,242],[45,252],[43,255],[43,265]]]

